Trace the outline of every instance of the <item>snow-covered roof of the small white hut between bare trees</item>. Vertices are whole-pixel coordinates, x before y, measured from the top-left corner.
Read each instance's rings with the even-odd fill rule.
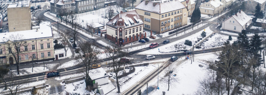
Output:
[[[106,76],[108,77],[107,73],[105,72],[105,70],[102,67],[90,70],[89,76],[92,80],[103,78]]]

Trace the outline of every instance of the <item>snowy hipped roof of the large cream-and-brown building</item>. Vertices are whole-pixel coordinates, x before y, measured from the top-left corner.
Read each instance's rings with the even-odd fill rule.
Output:
[[[182,8],[186,8],[180,1],[169,1],[165,3],[155,3],[151,1],[143,1],[138,6],[135,7],[136,9],[145,10],[153,13],[167,13],[174,10],[179,10]]]

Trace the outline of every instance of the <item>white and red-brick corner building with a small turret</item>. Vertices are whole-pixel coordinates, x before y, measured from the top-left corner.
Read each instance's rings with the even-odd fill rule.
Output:
[[[144,38],[143,21],[136,10],[117,14],[106,24],[106,38],[125,45]]]

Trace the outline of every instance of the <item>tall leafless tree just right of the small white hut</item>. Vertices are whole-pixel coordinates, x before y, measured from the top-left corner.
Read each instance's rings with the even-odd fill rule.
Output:
[[[118,93],[120,93],[118,74],[119,74],[119,71],[121,70],[122,66],[125,63],[117,60],[117,58],[122,59],[122,58],[128,56],[128,49],[122,49],[121,47],[114,45],[114,46],[107,46],[107,51],[108,51],[108,53],[106,53],[106,55],[107,55],[107,57],[110,57],[112,60],[113,71],[116,74],[115,77],[116,77],[117,90],[118,90]]]

